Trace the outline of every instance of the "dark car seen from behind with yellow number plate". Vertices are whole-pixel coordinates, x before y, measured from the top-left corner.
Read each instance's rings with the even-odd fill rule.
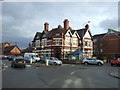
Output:
[[[11,67],[15,68],[15,67],[24,67],[25,68],[26,62],[24,61],[24,59],[14,59],[11,62]]]

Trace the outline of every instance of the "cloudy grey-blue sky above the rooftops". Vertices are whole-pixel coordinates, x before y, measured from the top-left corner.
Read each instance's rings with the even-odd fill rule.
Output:
[[[90,21],[92,35],[106,33],[108,28],[118,30],[117,2],[3,2],[0,15],[2,42],[17,42],[20,49],[43,31],[45,22],[51,30],[63,26],[64,19],[73,29],[84,28]]]

